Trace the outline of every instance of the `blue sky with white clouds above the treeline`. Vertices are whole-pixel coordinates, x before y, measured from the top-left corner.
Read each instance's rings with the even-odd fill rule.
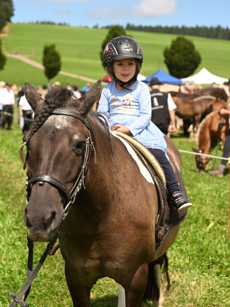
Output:
[[[229,0],[13,0],[13,22],[230,27]]]

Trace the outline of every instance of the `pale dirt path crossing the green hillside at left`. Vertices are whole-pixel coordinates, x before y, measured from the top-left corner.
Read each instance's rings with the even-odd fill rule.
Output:
[[[33,67],[36,67],[38,69],[44,70],[44,66],[41,63],[38,63],[38,62],[36,62],[34,60],[31,60],[31,59],[29,59],[26,56],[22,56],[19,53],[17,53],[17,54],[5,53],[5,55],[10,57],[10,58],[22,61],[22,62],[24,62],[26,64],[29,64],[29,65],[31,65]],[[84,76],[79,76],[79,75],[76,75],[76,74],[72,74],[70,72],[60,71],[59,74],[64,75],[64,76],[69,76],[69,77],[77,78],[77,79],[80,79],[80,80],[84,80],[86,82],[95,83],[97,81],[95,79],[87,78],[87,77],[84,77]],[[106,82],[102,82],[101,84],[106,85],[107,83]]]

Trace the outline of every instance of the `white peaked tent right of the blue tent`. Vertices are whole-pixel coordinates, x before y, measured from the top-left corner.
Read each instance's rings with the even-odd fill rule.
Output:
[[[197,74],[182,78],[181,81],[184,83],[193,83],[193,84],[212,84],[215,82],[216,84],[223,84],[224,82],[228,82],[228,79],[221,78],[213,75],[206,68],[202,68]]]

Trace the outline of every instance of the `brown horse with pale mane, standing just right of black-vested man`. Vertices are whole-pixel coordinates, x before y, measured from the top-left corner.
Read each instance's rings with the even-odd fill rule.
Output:
[[[174,96],[173,101],[177,108],[175,109],[176,115],[182,119],[193,119],[193,133],[197,131],[199,123],[205,116],[213,111],[213,105],[215,104],[215,110],[219,111],[218,106],[221,108],[226,106],[225,102],[217,103],[216,99],[211,96],[201,96],[192,100],[182,99]]]

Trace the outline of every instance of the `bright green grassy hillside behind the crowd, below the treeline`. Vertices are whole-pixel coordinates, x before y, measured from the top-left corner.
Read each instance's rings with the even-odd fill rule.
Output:
[[[2,37],[5,53],[17,51],[42,63],[44,45],[55,43],[61,55],[61,70],[96,80],[105,75],[99,58],[99,51],[101,43],[107,35],[107,29],[37,24],[10,24],[9,26],[9,36]],[[127,35],[129,34],[142,46],[144,53],[143,70],[146,76],[154,73],[159,67],[167,71],[163,50],[170,46],[172,39],[177,35],[138,31],[128,31]],[[229,78],[230,41],[192,36],[187,36],[187,38],[193,41],[201,54],[202,62],[196,72],[206,67],[213,74]],[[20,76],[20,72],[23,76]],[[63,77],[57,76],[55,80],[59,78],[63,79]],[[5,70],[0,72],[0,79],[17,84],[21,82],[23,84],[25,81],[29,81],[28,79],[33,79],[32,83],[35,85],[46,83],[43,72],[38,72],[35,68],[29,68],[28,65],[19,64],[19,61],[11,59],[8,59]],[[82,83],[79,80],[68,81],[76,81],[74,83],[80,86],[80,83]]]

